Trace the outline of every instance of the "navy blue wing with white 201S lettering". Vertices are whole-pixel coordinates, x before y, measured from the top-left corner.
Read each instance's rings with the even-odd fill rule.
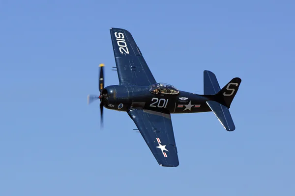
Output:
[[[148,86],[156,80],[137,47],[132,35],[125,29],[111,28],[112,44],[119,83],[122,85]]]

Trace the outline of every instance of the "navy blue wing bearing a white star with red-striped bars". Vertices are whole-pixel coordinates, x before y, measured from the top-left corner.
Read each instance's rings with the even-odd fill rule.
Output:
[[[133,109],[128,115],[136,124],[160,166],[179,165],[171,115],[151,110]]]

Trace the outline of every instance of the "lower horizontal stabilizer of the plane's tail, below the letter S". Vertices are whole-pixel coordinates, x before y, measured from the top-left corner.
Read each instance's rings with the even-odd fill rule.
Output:
[[[211,100],[207,101],[207,105],[227,131],[234,131],[236,129],[231,113],[226,106]]]

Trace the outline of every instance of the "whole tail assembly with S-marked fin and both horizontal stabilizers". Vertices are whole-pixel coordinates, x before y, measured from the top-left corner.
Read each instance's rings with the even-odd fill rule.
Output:
[[[228,131],[236,129],[229,108],[240,83],[241,79],[236,77],[220,90],[215,74],[210,71],[204,71],[204,95],[212,95],[210,100],[207,101],[207,105]]]

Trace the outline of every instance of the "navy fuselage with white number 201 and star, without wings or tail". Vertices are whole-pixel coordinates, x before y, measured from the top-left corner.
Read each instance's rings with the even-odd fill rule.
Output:
[[[118,111],[142,108],[164,113],[209,112],[206,96],[185,91],[177,94],[154,94],[147,86],[112,85],[104,89],[104,107]]]

